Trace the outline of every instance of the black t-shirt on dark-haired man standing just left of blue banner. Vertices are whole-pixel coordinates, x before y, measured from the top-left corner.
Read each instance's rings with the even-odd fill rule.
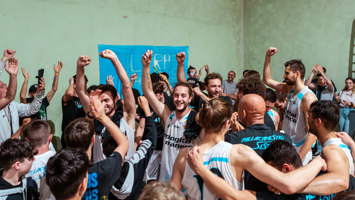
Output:
[[[67,105],[64,105],[63,97],[62,97],[62,111],[63,111],[62,132],[64,132],[65,128],[76,118],[84,117],[78,115],[80,108],[82,108],[79,97],[73,96],[67,102]]]

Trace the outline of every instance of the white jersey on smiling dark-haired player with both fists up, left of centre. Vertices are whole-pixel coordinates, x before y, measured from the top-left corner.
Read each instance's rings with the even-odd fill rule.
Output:
[[[123,117],[121,118],[119,129],[127,137],[128,142],[129,142],[127,155],[124,157],[124,160],[126,160],[126,159],[132,157],[133,154],[135,154],[135,131],[136,130],[130,129]],[[106,130],[106,127],[104,127],[102,129],[101,133],[104,133],[105,130]],[[101,135],[95,135],[95,143],[94,143],[93,148],[94,148],[95,163],[106,159],[105,154],[102,152],[102,136]]]

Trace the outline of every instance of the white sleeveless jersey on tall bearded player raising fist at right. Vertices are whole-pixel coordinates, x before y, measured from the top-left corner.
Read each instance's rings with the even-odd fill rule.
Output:
[[[292,97],[294,94],[293,90],[287,96],[282,131],[291,137],[293,146],[302,146],[306,137],[306,122],[304,114],[300,110],[300,104],[304,94],[307,92],[312,92],[312,90],[309,90],[306,86],[294,97]],[[312,94],[314,95],[313,92]]]

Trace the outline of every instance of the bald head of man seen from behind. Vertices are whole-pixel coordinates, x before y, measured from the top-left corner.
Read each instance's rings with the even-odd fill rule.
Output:
[[[256,94],[247,94],[239,103],[239,116],[247,127],[252,124],[263,124],[265,113],[265,101]]]

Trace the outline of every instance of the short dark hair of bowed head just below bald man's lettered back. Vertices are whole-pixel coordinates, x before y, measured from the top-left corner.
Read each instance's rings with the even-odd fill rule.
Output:
[[[272,161],[274,166],[281,171],[284,164],[292,165],[295,169],[302,167],[302,161],[296,149],[287,141],[276,140],[272,142],[261,154],[265,162]]]

